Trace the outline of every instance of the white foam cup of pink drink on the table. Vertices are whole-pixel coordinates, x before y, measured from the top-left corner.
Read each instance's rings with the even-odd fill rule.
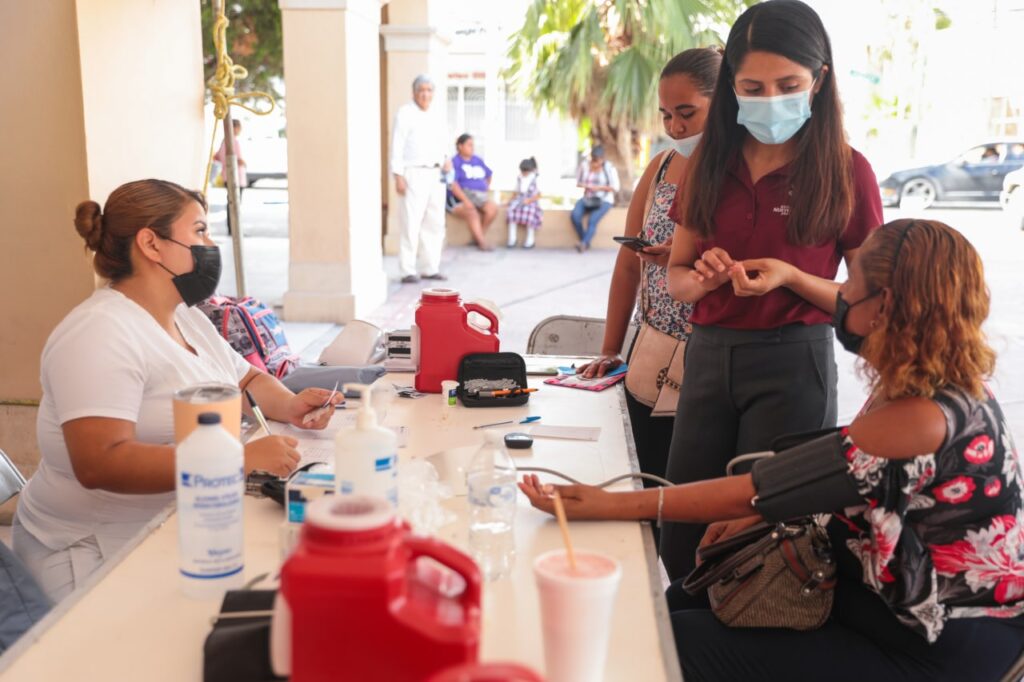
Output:
[[[611,557],[587,550],[575,553],[575,563],[573,571],[565,550],[534,560],[549,682],[599,682],[604,672],[623,570]]]

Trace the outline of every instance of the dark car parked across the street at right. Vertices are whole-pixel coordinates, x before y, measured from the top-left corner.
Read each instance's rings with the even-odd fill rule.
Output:
[[[995,202],[1008,173],[1024,167],[1024,141],[1002,140],[971,147],[952,161],[896,171],[879,183],[882,203],[912,200],[928,208],[936,202]]]

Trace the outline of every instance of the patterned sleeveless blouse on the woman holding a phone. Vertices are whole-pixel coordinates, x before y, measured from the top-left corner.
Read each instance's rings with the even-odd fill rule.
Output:
[[[676,223],[669,217],[669,208],[676,199],[677,186],[665,181],[665,174],[675,155],[674,151],[665,155],[665,161],[662,162],[662,167],[654,178],[654,201],[640,230],[640,237],[651,244],[664,244],[676,230]],[[643,263],[641,268],[642,291],[637,297],[639,300],[633,315],[633,325],[639,327],[640,323],[646,319],[647,324],[657,331],[685,341],[693,331],[690,326],[693,305],[681,303],[669,294],[668,268],[653,263]]]

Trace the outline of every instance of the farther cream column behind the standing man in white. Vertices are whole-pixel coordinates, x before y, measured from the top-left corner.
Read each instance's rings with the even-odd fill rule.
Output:
[[[387,168],[391,151],[394,115],[398,108],[412,101],[413,80],[429,74],[434,80],[434,101],[442,118],[447,117],[447,46],[452,42],[435,28],[444,18],[447,3],[442,0],[391,0],[387,6],[388,23],[380,29],[384,37],[385,97],[387,131],[384,144],[384,173],[387,175],[387,233],[384,249],[398,253],[398,195]],[[451,146],[453,154],[455,140]]]

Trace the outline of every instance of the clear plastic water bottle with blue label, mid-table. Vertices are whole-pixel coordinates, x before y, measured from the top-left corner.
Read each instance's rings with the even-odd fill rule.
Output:
[[[469,494],[469,553],[485,580],[508,576],[515,562],[515,463],[501,433],[486,442],[466,472]]]

